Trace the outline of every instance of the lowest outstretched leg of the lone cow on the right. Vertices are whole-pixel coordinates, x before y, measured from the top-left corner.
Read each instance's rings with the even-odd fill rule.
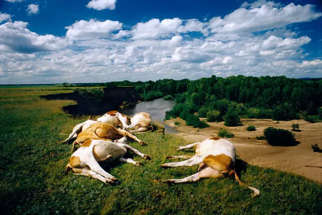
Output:
[[[190,175],[188,177],[185,177],[182,179],[168,179],[168,180],[164,180],[164,182],[169,182],[169,183],[196,182],[196,181],[199,181],[201,178],[218,178],[221,176],[223,176],[223,174],[219,173],[217,170],[212,169],[211,167],[207,167],[197,172],[196,174]]]

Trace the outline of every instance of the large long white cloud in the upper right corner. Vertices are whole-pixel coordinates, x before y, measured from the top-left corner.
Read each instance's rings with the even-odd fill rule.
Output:
[[[260,1],[266,2],[266,1]],[[209,21],[213,33],[222,32],[255,32],[274,28],[282,28],[292,23],[308,22],[322,16],[314,11],[311,4],[295,5],[290,3],[285,7],[274,7],[276,4],[265,4],[251,9],[239,8],[226,15],[223,19],[214,17]],[[260,20],[260,21],[259,21]]]

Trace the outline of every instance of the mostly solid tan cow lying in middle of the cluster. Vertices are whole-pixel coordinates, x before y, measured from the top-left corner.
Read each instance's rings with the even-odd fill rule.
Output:
[[[82,146],[85,141],[90,139],[118,140],[122,137],[129,137],[141,145],[146,145],[142,140],[139,140],[136,136],[128,131],[114,128],[108,123],[97,122],[78,134],[77,139],[73,142],[71,152],[74,150],[75,144]]]

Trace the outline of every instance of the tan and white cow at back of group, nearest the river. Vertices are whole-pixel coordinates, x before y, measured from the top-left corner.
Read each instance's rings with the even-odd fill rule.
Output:
[[[134,128],[134,130],[129,130]],[[153,130],[152,117],[149,113],[139,112],[131,118],[131,124],[126,127],[131,133],[145,133]]]

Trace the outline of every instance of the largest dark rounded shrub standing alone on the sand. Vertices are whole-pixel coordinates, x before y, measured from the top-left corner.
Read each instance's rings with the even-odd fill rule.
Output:
[[[295,146],[295,134],[289,130],[268,127],[264,130],[264,136],[272,146]]]

